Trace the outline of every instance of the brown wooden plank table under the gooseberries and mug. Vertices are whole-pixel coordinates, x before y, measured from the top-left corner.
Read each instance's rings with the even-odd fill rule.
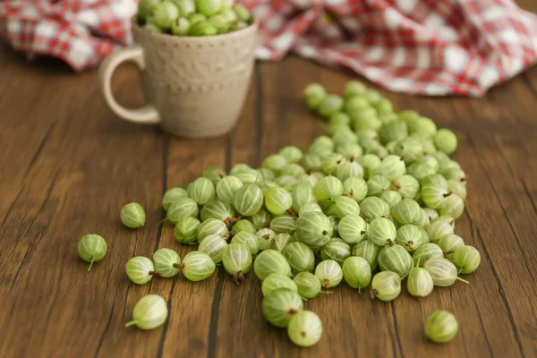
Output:
[[[239,124],[206,140],[172,138],[156,127],[113,115],[95,72],[73,75],[51,61],[26,64],[5,47],[0,57],[0,356],[537,356],[537,68],[482,99],[418,98],[388,93],[452,128],[455,158],[468,175],[465,215],[456,233],[482,252],[482,265],[429,297],[372,301],[341,285],[305,303],[323,321],[319,345],[300,349],[270,327],[260,310],[260,281],[236,286],[223,268],[206,282],[184,277],[135,286],[124,273],[133,255],[170,247],[172,226],[159,225],[167,188],[186,185],[206,166],[259,165],[286,144],[307,148],[322,130],[303,107],[311,81],[340,91],[353,76],[294,56],[259,64]],[[115,75],[115,93],[142,103],[137,71]],[[120,225],[130,201],[148,213],[137,231]],[[81,235],[107,239],[108,253],[87,272]],[[170,309],[153,331],[124,328],[145,294]],[[456,314],[460,331],[447,345],[423,334],[431,311]],[[435,355],[436,356],[436,355]]]

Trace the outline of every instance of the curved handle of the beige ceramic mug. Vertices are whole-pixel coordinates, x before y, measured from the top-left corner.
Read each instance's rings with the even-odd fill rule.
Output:
[[[160,123],[160,117],[157,109],[151,105],[131,109],[125,108],[115,101],[110,88],[110,81],[112,80],[112,74],[114,73],[115,68],[125,61],[132,61],[138,65],[140,70],[143,70],[145,68],[143,48],[140,45],[132,45],[130,47],[124,47],[120,50],[117,50],[111,55],[108,55],[98,68],[100,89],[103,93],[103,96],[105,96],[108,107],[112,109],[115,115],[118,115],[129,122],[138,124]]]

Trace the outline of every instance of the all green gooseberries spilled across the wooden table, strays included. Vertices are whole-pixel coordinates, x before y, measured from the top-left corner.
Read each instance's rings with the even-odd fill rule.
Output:
[[[478,268],[481,256],[454,231],[466,199],[465,172],[449,158],[456,135],[414,111],[397,112],[358,81],[346,84],[344,96],[311,84],[304,97],[326,119],[326,135],[305,151],[286,146],[259,168],[209,167],[185,189],[169,189],[162,207],[175,240],[198,250],[183,259],[169,248],[151,259],[133,257],[125,270],[134,284],[179,272],[202,281],[220,263],[240,284],[253,268],[265,318],[287,328],[295,345],[310,346],[320,340],[322,324],[303,301],[343,281],[357,294],[369,287],[384,302],[395,300],[402,286],[425,297],[435,286],[467,283],[458,276]],[[130,203],[121,219],[138,228],[145,212]],[[79,251],[92,265],[107,245],[90,234]],[[149,295],[127,326],[155,328],[167,313],[164,299]],[[451,313],[437,311],[425,333],[445,343],[457,329]]]

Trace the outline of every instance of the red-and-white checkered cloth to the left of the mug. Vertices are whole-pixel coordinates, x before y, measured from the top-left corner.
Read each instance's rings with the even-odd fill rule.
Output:
[[[135,0],[5,0],[0,36],[33,55],[63,59],[74,70],[99,64],[131,41]]]

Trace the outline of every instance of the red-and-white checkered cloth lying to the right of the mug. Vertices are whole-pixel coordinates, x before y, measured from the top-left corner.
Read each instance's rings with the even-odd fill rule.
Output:
[[[511,0],[245,1],[261,59],[336,64],[388,90],[480,97],[537,62],[537,16]]]

